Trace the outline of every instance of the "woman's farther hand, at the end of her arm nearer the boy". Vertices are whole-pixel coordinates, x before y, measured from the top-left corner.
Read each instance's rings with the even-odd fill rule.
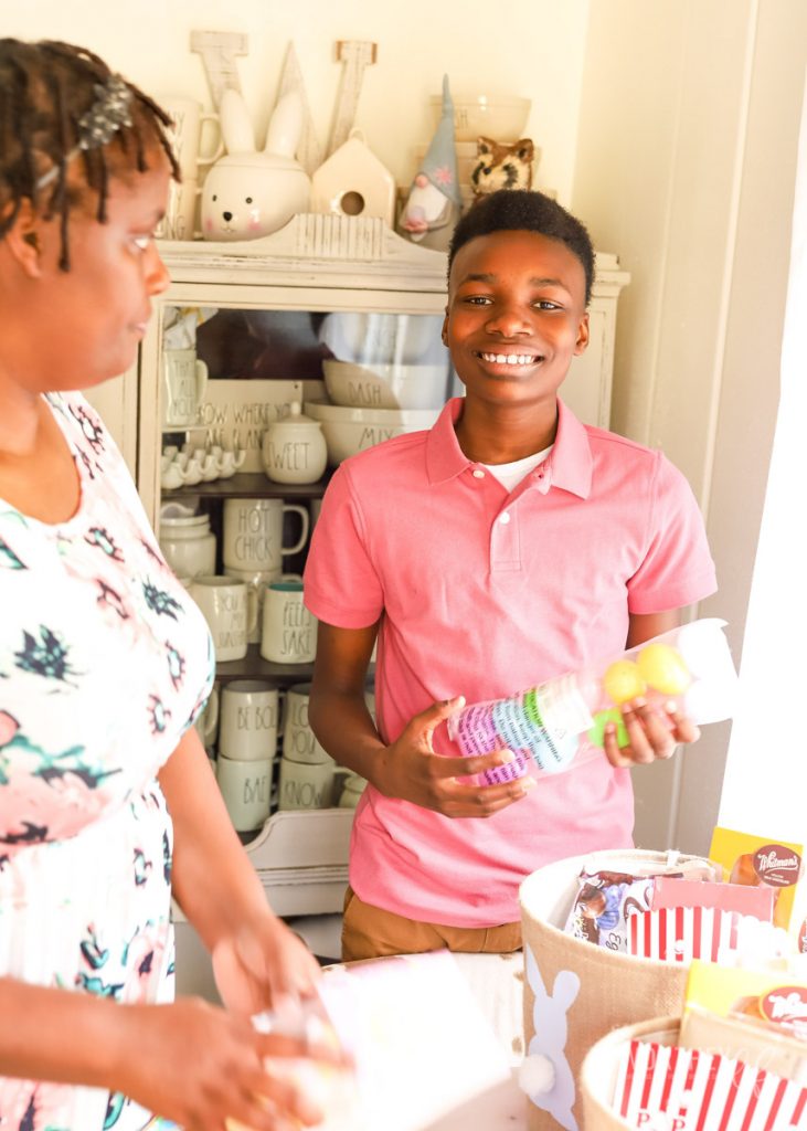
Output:
[[[222,935],[211,958],[222,1001],[246,1017],[310,998],[320,978],[305,943],[268,907]]]

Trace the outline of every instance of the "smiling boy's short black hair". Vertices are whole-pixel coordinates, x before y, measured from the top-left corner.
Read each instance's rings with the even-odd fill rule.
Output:
[[[585,271],[585,305],[595,280],[595,249],[585,226],[552,197],[526,189],[500,189],[471,205],[460,217],[449,245],[449,274],[460,248],[478,235],[494,232],[537,232],[559,240],[578,257]]]

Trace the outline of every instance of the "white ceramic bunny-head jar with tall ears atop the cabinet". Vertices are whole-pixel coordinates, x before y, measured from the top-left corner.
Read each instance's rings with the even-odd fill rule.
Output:
[[[294,159],[303,127],[300,95],[277,103],[263,150],[255,149],[242,95],[226,89],[219,104],[227,153],[211,166],[201,198],[206,240],[254,240],[283,227],[309,206],[311,182]]]

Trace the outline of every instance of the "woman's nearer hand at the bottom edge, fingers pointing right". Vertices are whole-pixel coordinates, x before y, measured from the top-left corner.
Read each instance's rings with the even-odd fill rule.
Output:
[[[304,1037],[258,1033],[245,1017],[197,998],[171,1005],[120,1007],[123,1037],[113,1087],[184,1131],[225,1131],[237,1120],[251,1131],[319,1123],[323,1113],[289,1072],[266,1057],[338,1054]]]

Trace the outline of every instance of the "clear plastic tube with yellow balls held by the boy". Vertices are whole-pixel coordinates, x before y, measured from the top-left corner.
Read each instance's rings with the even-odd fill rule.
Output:
[[[622,707],[640,696],[658,707],[674,701],[694,723],[730,718],[737,673],[724,624],[714,618],[693,621],[581,671],[469,703],[448,719],[449,736],[466,757],[512,750],[512,762],[478,776],[483,785],[497,785],[601,757],[611,723],[626,746]]]

